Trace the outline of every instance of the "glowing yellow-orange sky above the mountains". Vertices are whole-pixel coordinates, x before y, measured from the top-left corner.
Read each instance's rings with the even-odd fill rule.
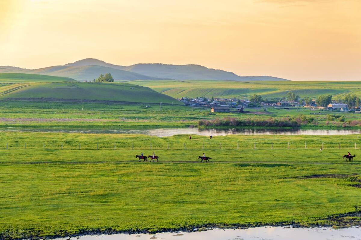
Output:
[[[360,0],[0,0],[0,66],[83,58],[361,80]]]

